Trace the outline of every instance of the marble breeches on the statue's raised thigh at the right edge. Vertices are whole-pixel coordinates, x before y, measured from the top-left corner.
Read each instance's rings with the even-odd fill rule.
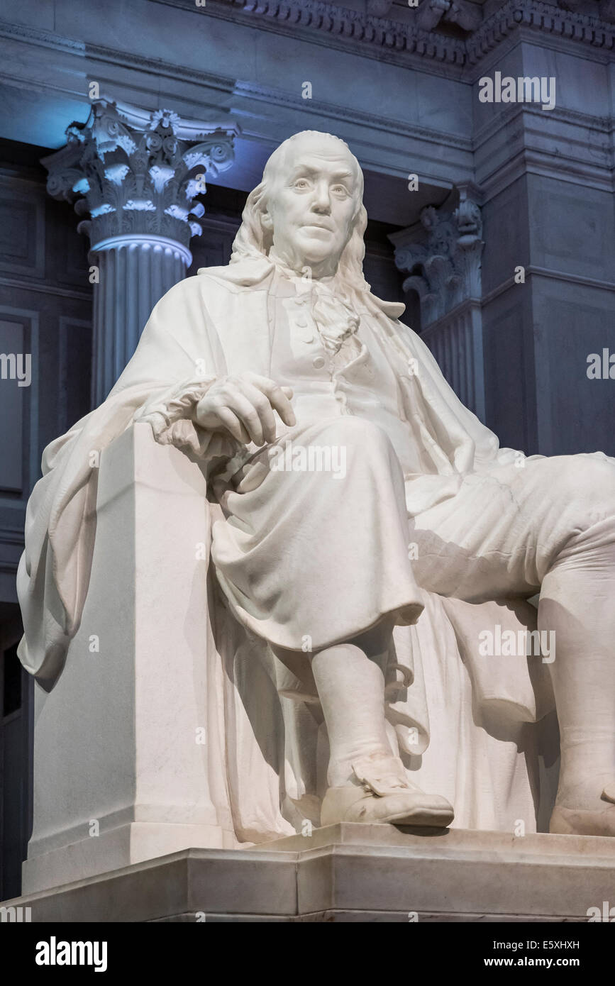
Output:
[[[469,474],[410,520],[410,540],[419,585],[469,602],[531,596],[555,568],[615,577],[615,462],[530,458]]]

